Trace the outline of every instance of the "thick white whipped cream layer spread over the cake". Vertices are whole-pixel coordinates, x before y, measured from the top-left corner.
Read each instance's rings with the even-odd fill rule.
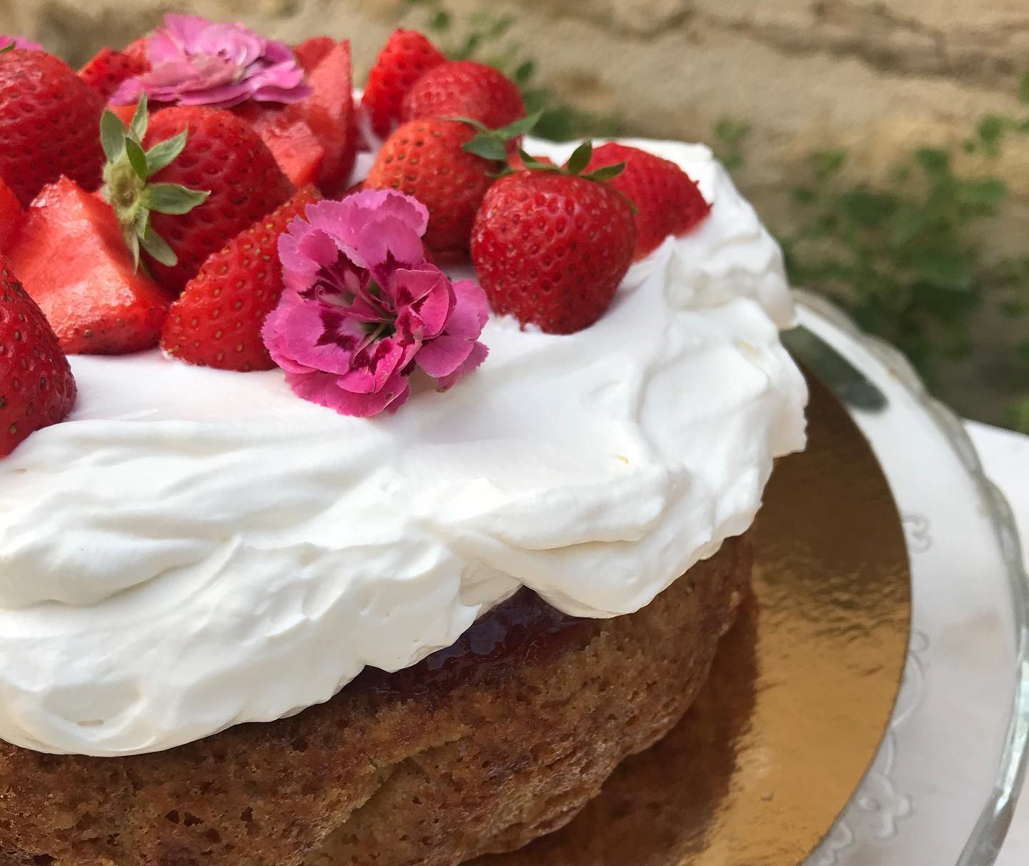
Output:
[[[73,358],[71,419],[0,461],[0,738],[117,756],[282,718],[520,586],[629,613],[744,532],[805,442],[782,257],[707,148],[629,143],[710,217],[584,331],[491,319],[483,367],[395,416],[279,371]]]

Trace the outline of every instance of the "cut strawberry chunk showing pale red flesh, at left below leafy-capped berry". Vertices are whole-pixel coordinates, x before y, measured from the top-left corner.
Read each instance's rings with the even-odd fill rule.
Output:
[[[110,207],[67,178],[32,203],[8,258],[65,352],[120,355],[156,345],[167,297],[136,272]]]

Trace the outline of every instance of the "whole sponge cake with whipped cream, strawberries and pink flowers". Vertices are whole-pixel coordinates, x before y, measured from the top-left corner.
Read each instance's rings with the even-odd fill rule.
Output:
[[[260,50],[188,88],[148,71],[202,36]],[[391,38],[357,114],[346,43],[169,16],[143,44],[79,76],[135,117],[102,127],[111,205],[52,180],[0,239],[38,308],[10,303],[52,325],[35,358],[73,377],[45,395],[64,420],[0,458],[0,863],[450,866],[557,829],[688,708],[747,591],[773,461],[804,445],[778,246],[706,147],[532,139],[499,73],[417,34]],[[32,50],[0,55],[0,83]],[[146,128],[147,96],[204,87],[215,108]],[[155,137],[176,123],[178,174]],[[205,136],[227,153],[206,171],[233,174],[200,190]],[[406,188],[445,157],[460,195],[438,173]],[[126,230],[119,192],[151,175],[181,184],[152,209],[159,244],[149,217]],[[99,262],[74,292],[52,263],[72,219]],[[115,284],[112,316],[93,300]],[[344,291],[358,324],[305,342],[296,322]]]

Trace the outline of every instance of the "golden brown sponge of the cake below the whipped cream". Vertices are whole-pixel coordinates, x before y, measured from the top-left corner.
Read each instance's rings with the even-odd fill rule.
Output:
[[[0,744],[0,866],[453,866],[520,846],[682,716],[750,569],[731,540],[608,620],[524,592],[415,667],[169,752]]]

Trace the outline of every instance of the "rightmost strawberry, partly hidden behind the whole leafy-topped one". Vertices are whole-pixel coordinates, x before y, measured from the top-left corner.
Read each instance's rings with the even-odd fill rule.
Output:
[[[588,171],[624,163],[626,169],[611,186],[636,206],[636,253],[640,259],[669,234],[682,234],[710,212],[697,184],[669,159],[638,147],[603,144],[593,152]]]

